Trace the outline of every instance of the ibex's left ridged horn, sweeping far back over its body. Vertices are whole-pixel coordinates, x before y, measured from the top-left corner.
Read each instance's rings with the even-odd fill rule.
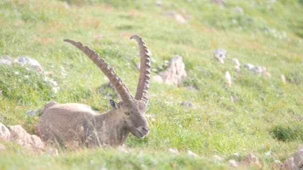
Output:
[[[124,103],[130,103],[132,101],[133,96],[127,86],[122,82],[122,79],[118,74],[115,73],[114,69],[111,68],[98,53],[91,50],[88,46],[83,46],[81,42],[75,42],[69,39],[64,39],[64,41],[71,43],[83,51],[101,69],[105,76],[107,76],[110,82],[115,86]]]

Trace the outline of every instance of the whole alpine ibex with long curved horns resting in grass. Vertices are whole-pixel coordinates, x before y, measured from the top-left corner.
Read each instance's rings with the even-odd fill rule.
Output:
[[[54,101],[44,105],[39,117],[38,133],[44,141],[74,143],[88,146],[121,146],[131,132],[139,138],[149,134],[150,127],[145,117],[148,104],[151,60],[144,40],[137,35],[140,47],[140,76],[136,96],[133,98],[127,86],[99,54],[81,42],[65,39],[83,51],[108,77],[120,94],[122,101],[110,100],[112,109],[99,114],[90,106],[79,103],[60,104]]]

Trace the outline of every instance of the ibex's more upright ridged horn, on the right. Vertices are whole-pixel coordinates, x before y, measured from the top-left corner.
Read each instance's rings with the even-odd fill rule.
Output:
[[[135,98],[137,100],[148,100],[148,92],[150,87],[151,75],[151,57],[150,51],[146,46],[143,38],[138,35],[131,36],[130,39],[135,39],[140,48],[140,76]]]

